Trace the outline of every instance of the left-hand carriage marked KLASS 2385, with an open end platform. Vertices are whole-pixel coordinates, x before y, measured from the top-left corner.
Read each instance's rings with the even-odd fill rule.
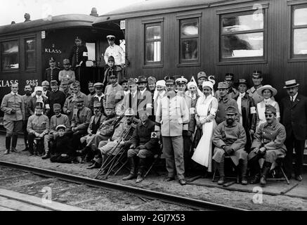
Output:
[[[101,54],[108,46],[107,34],[115,34],[121,39],[124,36],[120,30],[110,26],[107,29],[92,27],[95,19],[91,15],[58,15],[1,26],[0,99],[11,90],[12,82],[20,84],[20,94],[23,94],[25,84],[41,85],[51,57],[55,58],[58,68],[62,68],[63,59],[70,55],[75,37],[81,37],[89,50],[86,68],[76,70],[81,90],[87,91],[87,81],[101,79],[103,75],[105,63]]]

